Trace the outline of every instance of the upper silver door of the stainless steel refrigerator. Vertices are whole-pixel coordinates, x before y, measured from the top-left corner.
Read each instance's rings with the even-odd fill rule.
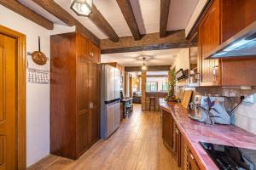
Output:
[[[115,99],[114,96],[114,80],[115,80],[115,68],[110,65],[105,65],[105,80],[106,80],[106,87],[105,87],[105,101],[110,101]]]

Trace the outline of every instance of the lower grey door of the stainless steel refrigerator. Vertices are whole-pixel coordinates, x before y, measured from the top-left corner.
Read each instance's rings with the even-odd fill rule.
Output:
[[[107,127],[106,127],[106,137],[105,138],[108,138],[112,133],[113,131],[115,130],[114,128],[114,104],[111,103],[111,104],[108,104],[107,105]]]

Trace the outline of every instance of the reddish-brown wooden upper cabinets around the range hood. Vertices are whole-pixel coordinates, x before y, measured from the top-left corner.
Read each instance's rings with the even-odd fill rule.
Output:
[[[256,86],[248,74],[256,70],[256,58],[206,59],[214,48],[253,23],[255,11],[254,0],[212,0],[198,26],[201,86]]]

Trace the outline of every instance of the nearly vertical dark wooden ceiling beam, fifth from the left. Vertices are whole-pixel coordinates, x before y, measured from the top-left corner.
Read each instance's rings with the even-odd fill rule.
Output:
[[[166,37],[171,0],[160,0],[160,37]]]

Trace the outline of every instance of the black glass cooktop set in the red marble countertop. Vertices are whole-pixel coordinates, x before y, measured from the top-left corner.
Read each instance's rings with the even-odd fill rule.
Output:
[[[256,170],[256,150],[200,142],[219,169]]]

